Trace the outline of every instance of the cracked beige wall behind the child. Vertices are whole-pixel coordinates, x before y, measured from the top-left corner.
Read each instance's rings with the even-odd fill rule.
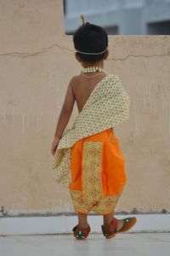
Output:
[[[50,153],[72,76],[62,1],[0,1],[0,207],[8,214],[73,212]],[[80,25],[82,20],[80,19]],[[105,70],[122,79],[130,118],[116,126],[127,186],[116,212],[170,210],[170,37],[109,36]],[[77,115],[74,107],[69,126]]]

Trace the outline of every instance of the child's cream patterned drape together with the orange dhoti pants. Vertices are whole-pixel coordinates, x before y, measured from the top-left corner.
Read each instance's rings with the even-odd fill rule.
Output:
[[[54,180],[69,189],[76,212],[114,211],[127,176],[113,127],[129,117],[130,99],[115,74],[95,85],[54,154]]]

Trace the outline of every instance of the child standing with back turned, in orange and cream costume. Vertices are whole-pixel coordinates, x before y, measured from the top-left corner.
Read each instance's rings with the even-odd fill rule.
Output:
[[[105,30],[83,22],[73,42],[76,59],[83,68],[68,85],[54,134],[54,179],[70,191],[78,215],[74,236],[88,237],[87,216],[94,211],[103,215],[101,230],[109,239],[136,223],[135,217],[114,218],[127,176],[113,126],[128,118],[130,100],[118,76],[105,72],[104,60],[109,55]],[[64,132],[75,101],[79,114],[72,128]]]

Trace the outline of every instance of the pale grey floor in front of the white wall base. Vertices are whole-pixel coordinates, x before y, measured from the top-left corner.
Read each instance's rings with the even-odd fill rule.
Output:
[[[170,233],[123,233],[106,240],[90,234],[84,241],[72,235],[0,236],[2,256],[169,256]]]

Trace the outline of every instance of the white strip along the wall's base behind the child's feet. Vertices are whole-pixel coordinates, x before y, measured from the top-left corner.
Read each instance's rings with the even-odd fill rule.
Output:
[[[116,218],[136,217],[137,223],[126,233],[170,232],[170,214],[115,215]],[[103,216],[89,215],[91,233],[101,233]],[[56,217],[3,217],[0,218],[0,236],[71,234],[77,224],[77,216]]]

